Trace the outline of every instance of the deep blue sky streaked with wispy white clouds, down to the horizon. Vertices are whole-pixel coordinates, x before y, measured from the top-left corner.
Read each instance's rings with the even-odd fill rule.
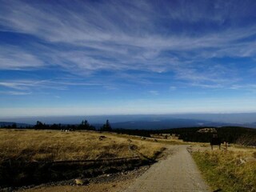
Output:
[[[0,3],[0,117],[256,111],[254,0]]]

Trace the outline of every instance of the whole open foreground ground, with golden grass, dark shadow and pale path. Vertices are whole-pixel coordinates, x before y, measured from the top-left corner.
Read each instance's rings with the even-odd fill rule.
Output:
[[[256,191],[256,149],[238,145],[2,129],[0,162],[2,191]]]

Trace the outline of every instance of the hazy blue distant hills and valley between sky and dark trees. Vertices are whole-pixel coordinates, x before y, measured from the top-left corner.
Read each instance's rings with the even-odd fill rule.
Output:
[[[98,116],[58,116],[30,118],[0,118],[0,126],[34,125],[37,121],[46,124],[79,124],[88,120],[96,128],[109,119],[113,128],[124,129],[168,129],[194,126],[246,126],[256,128],[256,113],[245,114],[148,114],[148,115],[98,115]]]

